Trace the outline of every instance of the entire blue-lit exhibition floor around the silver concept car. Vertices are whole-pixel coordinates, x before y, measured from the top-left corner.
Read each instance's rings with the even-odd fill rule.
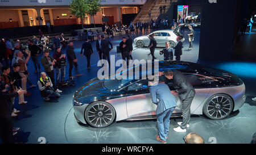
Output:
[[[196,29],[194,48],[187,51],[188,38],[186,37],[183,55],[181,60],[197,62],[199,55],[199,36],[200,29]],[[254,31],[255,32],[255,31]],[[184,34],[187,31],[183,32]],[[250,36],[249,36],[250,35]],[[187,35],[185,35],[187,36]],[[256,37],[256,34],[246,34],[245,37]],[[110,39],[114,45],[110,54],[115,55],[115,59],[121,58],[120,53],[116,53],[116,47],[119,45],[122,36]],[[156,143],[155,135],[157,133],[156,120],[137,121],[137,122],[119,122],[114,123],[106,128],[93,128],[79,125],[73,115],[72,97],[75,91],[85,82],[97,76],[98,53],[96,52],[96,41],[92,42],[94,53],[92,55],[92,68],[86,69],[86,58],[80,56],[82,41],[75,41],[75,52],[78,57],[79,71],[84,74],[75,78],[76,85],[73,87],[61,88],[60,98],[52,99],[49,102],[40,97],[38,87],[30,89],[32,95],[26,97],[28,101],[25,105],[15,104],[18,110],[21,110],[18,118],[14,119],[14,126],[20,127],[16,137],[19,143],[38,144],[46,143]],[[145,58],[149,53],[148,49],[135,48],[134,58]],[[159,53],[156,49],[155,53]],[[52,55],[53,52],[50,53]],[[156,55],[161,60],[159,54]],[[148,56],[146,59],[151,59]],[[203,115],[192,116],[189,132],[197,132],[201,135],[205,143],[250,143],[253,133],[256,132],[256,101],[251,100],[256,96],[256,62],[210,62],[199,60],[202,64],[207,64],[217,69],[224,69],[237,74],[246,85],[246,102],[239,111],[233,112],[224,120],[210,120]],[[28,70],[31,72],[32,83],[36,83],[39,74],[33,74],[34,66],[30,60]],[[43,67],[42,67],[43,68]],[[68,66],[66,67],[66,77],[68,77]],[[183,137],[187,133],[177,133],[172,128],[177,127],[177,122],[181,118],[171,119],[170,133],[167,144],[184,143]],[[43,137],[43,138],[42,138]]]

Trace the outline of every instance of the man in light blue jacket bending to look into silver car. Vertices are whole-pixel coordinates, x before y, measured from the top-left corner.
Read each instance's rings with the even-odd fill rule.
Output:
[[[176,98],[165,82],[166,79],[159,77],[159,83],[149,82],[152,102],[157,105],[156,115],[158,122],[158,132],[156,140],[166,144],[166,138],[169,133],[170,117],[175,107],[177,107]]]

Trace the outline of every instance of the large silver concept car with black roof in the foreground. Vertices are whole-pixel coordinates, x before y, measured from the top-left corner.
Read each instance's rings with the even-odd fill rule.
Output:
[[[129,68],[131,69],[131,68]],[[129,70],[128,69],[128,70]],[[236,75],[184,61],[159,61],[159,72],[180,70],[196,90],[191,114],[224,119],[245,102],[245,85]],[[142,74],[142,73],[140,73]],[[166,82],[177,99],[172,116],[181,116],[181,101],[172,81]],[[120,120],[156,118],[148,79],[98,79],[86,82],[73,97],[77,122],[106,127]]]

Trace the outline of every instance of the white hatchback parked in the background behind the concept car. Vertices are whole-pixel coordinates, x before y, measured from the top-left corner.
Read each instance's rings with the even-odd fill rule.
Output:
[[[170,47],[174,48],[177,45],[177,35],[175,34],[175,31],[173,30],[159,30],[150,33],[149,35],[152,35],[154,33],[154,38],[157,43],[157,47],[166,47],[166,42],[169,41]],[[134,44],[139,47],[148,47],[150,44],[150,39],[148,38],[149,35],[146,36],[139,36],[134,39]],[[181,41],[184,41],[185,39],[183,38]]]

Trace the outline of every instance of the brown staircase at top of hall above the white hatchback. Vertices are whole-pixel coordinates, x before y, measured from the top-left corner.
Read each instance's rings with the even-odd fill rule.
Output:
[[[158,0],[158,1],[155,0],[150,7],[147,7],[147,10],[143,10],[143,12],[139,12],[139,15],[137,16],[137,18],[134,19],[134,23],[138,21],[141,21],[142,23],[149,22],[150,19],[156,20],[159,18],[159,16],[161,17],[164,16],[165,18],[167,15],[168,9],[171,6],[170,1],[171,0],[167,0],[167,2],[165,0]],[[166,6],[166,13],[164,14],[162,10],[162,14],[160,14],[159,7],[160,6],[163,7],[164,5]],[[151,9],[151,16],[149,17],[148,10],[150,9]]]

